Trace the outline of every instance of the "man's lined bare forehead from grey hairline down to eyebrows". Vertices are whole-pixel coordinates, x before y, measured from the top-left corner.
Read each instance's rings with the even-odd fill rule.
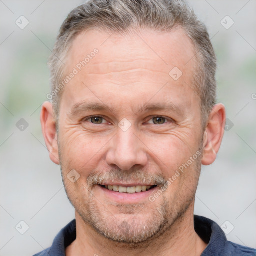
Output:
[[[98,53],[92,54],[95,49]],[[171,91],[170,101],[180,96],[179,100],[187,97],[187,103],[191,103],[194,56],[194,46],[181,28],[169,32],[140,29],[127,34],[90,29],[73,40],[68,52],[65,75],[73,68],[78,73],[65,86],[63,97],[79,104],[88,99],[85,90],[89,88],[109,100],[117,99],[113,95],[121,98],[133,91],[132,102],[137,96],[142,100],[141,95],[148,100],[150,93],[161,90],[166,100],[170,100],[167,93]]]

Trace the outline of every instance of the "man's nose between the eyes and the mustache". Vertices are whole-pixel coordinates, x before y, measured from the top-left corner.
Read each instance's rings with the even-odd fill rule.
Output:
[[[145,144],[130,127],[127,131],[117,128],[117,133],[109,141],[106,163],[122,170],[130,170],[134,165],[145,166],[148,158]]]

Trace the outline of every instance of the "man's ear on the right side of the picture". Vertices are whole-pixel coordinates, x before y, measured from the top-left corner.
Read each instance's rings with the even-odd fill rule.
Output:
[[[225,106],[221,103],[216,104],[208,117],[208,123],[203,137],[203,153],[201,163],[209,165],[216,159],[225,128]]]

